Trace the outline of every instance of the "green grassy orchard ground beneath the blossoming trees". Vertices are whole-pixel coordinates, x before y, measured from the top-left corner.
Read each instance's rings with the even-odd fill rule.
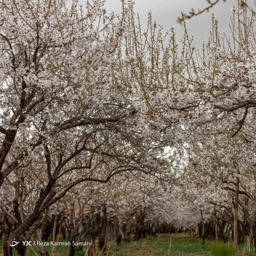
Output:
[[[0,244],[2,241],[0,242]],[[211,256],[209,246],[214,243],[212,240],[206,240],[202,245],[201,239],[197,234],[157,234],[155,237],[146,237],[140,241],[131,241],[130,243],[122,242],[122,246],[116,246],[115,241],[109,243],[109,247],[104,255],[106,256]],[[2,244],[1,244],[2,245]],[[52,252],[52,248],[47,246],[48,252]],[[0,252],[1,253],[1,252]],[[16,256],[17,252],[13,253]],[[40,255],[35,249],[28,250],[28,256]],[[50,253],[54,256],[68,255],[68,247],[58,247],[56,253]],[[86,248],[84,252],[76,253],[76,256],[86,256]],[[98,255],[98,254],[96,254]],[[238,256],[255,256],[256,253],[244,252],[244,246],[239,246]]]

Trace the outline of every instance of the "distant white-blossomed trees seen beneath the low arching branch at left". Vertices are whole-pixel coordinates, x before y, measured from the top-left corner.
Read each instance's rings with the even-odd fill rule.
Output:
[[[95,255],[96,237],[99,237],[99,249],[104,252],[109,242],[116,241],[120,245],[122,239],[130,241],[132,234],[134,239],[140,239],[154,236],[156,232],[178,230],[179,223],[169,217],[169,214],[175,215],[174,202],[170,200],[169,193],[164,191],[156,178],[147,176],[140,175],[138,179],[138,175],[123,173],[115,175],[107,184],[87,182],[86,186],[80,184],[76,189],[70,189],[64,198],[42,214],[31,233],[22,235],[21,240],[31,241],[30,237],[35,236],[38,241],[50,239],[58,242],[62,236],[70,241],[69,255],[83,250],[83,246],[72,246],[72,241],[87,241],[92,243],[88,255]],[[10,207],[13,204],[10,194],[15,191],[9,190],[12,186],[3,186],[6,196],[2,197],[1,235],[10,236],[19,225],[13,207]],[[29,196],[25,197],[29,190]],[[19,199],[19,213],[24,221],[33,213],[33,196],[40,194],[40,187],[33,184],[29,189],[22,185],[20,191],[23,196]],[[25,252],[22,244],[15,246],[15,249],[20,254]],[[44,246],[35,246],[34,250],[41,255],[51,253]]]

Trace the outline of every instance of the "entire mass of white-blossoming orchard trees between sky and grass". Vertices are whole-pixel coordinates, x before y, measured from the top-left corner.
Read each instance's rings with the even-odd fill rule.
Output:
[[[108,15],[99,0],[86,12],[77,1],[0,3],[4,255],[12,239],[42,239],[50,220],[56,239],[67,211],[63,234],[99,236],[102,249],[109,220],[126,238],[198,222],[204,237],[206,218],[235,245],[254,230],[253,15],[234,8],[230,40],[212,17],[196,51],[186,22],[179,43],[151,15],[141,31],[132,4]]]

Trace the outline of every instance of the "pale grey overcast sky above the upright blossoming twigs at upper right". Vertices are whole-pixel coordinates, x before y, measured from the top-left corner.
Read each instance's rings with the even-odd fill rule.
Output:
[[[146,24],[147,13],[152,11],[153,19],[157,23],[161,24],[165,30],[168,30],[171,26],[175,26],[177,30],[177,36],[182,36],[182,26],[177,23],[177,17],[181,12],[189,13],[191,8],[201,10],[207,6],[206,0],[134,0],[134,12],[140,13],[141,22]],[[248,0],[248,4],[253,6],[254,0]],[[220,1],[214,8],[210,9],[210,12],[203,13],[193,19],[188,20],[189,34],[194,35],[196,38],[196,47],[200,47],[203,39],[209,38],[209,31],[211,30],[211,13],[214,13],[216,19],[219,20],[220,31],[225,30],[228,33],[228,23],[230,21],[230,10],[232,6],[237,6],[236,0]],[[120,1],[107,0],[106,8],[109,12],[120,12]]]

